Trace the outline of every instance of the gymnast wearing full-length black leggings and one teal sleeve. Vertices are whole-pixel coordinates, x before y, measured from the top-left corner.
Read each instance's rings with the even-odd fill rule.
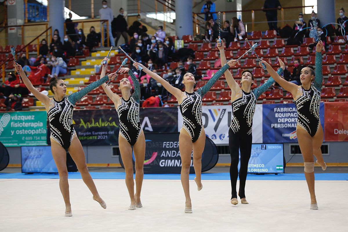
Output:
[[[217,43],[220,50],[221,63],[226,62],[223,42]],[[278,73],[282,73],[285,65],[279,62],[280,69]],[[273,83],[274,79],[270,77],[263,85],[251,90],[254,83],[254,77],[250,70],[242,72],[242,87],[232,77],[229,71],[225,72],[228,86],[231,88],[232,102],[232,119],[229,135],[229,148],[231,155],[230,178],[231,178],[231,204],[237,205],[237,178],[238,178],[238,162],[240,150],[240,169],[239,169],[239,192],[240,202],[248,204],[245,198],[245,182],[248,173],[248,163],[251,156],[252,145],[252,126],[256,107],[256,100],[263,94]]]

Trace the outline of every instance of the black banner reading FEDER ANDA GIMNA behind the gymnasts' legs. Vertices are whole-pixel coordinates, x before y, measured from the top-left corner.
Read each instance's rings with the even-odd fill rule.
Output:
[[[180,173],[181,157],[179,151],[179,133],[148,133],[145,135],[146,149],[144,160],[144,173]],[[194,173],[193,157],[191,156],[190,173]],[[202,171],[213,168],[219,154],[215,144],[206,137],[202,154]],[[133,154],[133,168],[134,168]],[[120,163],[124,167],[120,156]]]

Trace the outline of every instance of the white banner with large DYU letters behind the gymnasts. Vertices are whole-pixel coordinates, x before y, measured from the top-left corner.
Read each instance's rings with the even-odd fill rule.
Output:
[[[202,107],[202,122],[205,134],[215,144],[228,144],[228,130],[231,124],[232,107],[230,105],[213,105]],[[178,130],[183,118],[178,108]],[[253,143],[262,143],[262,105],[257,104],[253,119]]]

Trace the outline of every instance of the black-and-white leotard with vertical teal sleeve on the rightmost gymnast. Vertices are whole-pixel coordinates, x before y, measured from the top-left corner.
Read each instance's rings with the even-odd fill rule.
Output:
[[[323,83],[322,53],[315,53],[315,79],[310,89],[299,86],[297,89],[297,125],[314,136],[319,128],[320,94]]]

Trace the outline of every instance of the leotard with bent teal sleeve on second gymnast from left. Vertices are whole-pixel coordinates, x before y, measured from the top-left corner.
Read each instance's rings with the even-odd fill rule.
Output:
[[[140,86],[131,70],[129,70],[128,75],[134,83],[134,93],[128,100],[120,97],[116,110],[120,121],[120,136],[125,138],[131,146],[134,146],[142,133],[139,120]]]

